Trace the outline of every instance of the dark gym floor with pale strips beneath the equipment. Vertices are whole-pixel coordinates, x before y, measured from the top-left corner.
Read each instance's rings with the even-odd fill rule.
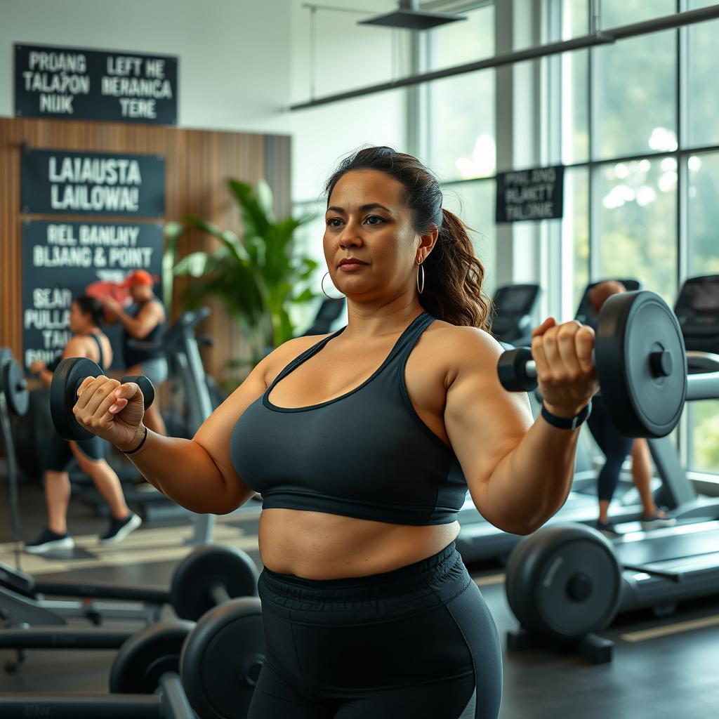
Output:
[[[0,485],[0,560],[13,563],[12,538],[7,515],[6,487]],[[44,522],[39,487],[23,486],[23,536],[32,538]],[[258,505],[223,518],[216,541],[241,546],[259,564],[257,552]],[[111,551],[94,549],[94,535],[106,520],[96,518],[86,505],[71,503],[70,531],[80,540],[75,559],[23,557],[36,574],[56,579],[102,579],[119,582],[167,584],[188,528],[177,523],[147,523]],[[167,558],[163,558],[163,557]],[[75,562],[75,565],[73,565]],[[78,568],[73,568],[78,567]],[[59,571],[58,571],[59,570]],[[500,567],[470,567],[504,636],[516,622],[505,600],[500,580],[485,585],[481,577],[501,573]],[[491,581],[491,580],[490,580]],[[718,587],[719,591],[719,587]],[[636,615],[605,633],[616,641],[611,664],[595,666],[585,659],[549,651],[504,655],[502,719],[717,719],[719,718],[719,598],[680,608],[680,613],[658,621]],[[168,610],[168,616],[171,611]],[[627,641],[628,633],[656,626],[675,626],[708,618],[703,628],[684,628],[667,636]],[[112,626],[112,625],[106,625]],[[115,623],[114,626],[132,628]],[[139,628],[139,625],[137,625]],[[12,653],[0,651],[0,689],[22,692],[104,692],[113,659],[112,651],[34,651],[17,674],[2,666]],[[1,716],[1,710],[0,710]]]

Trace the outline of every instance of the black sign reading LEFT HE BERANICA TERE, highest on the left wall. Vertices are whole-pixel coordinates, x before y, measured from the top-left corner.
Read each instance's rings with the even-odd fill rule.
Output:
[[[19,117],[177,124],[178,59],[15,45]]]

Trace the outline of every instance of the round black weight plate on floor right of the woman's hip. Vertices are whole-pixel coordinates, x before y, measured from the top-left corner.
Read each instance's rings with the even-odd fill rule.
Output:
[[[506,592],[524,628],[554,640],[601,631],[614,618],[622,574],[610,542],[582,524],[544,527],[510,557]]]

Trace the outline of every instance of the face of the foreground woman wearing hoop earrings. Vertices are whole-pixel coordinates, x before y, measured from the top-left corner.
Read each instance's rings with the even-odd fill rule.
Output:
[[[377,170],[347,173],[334,186],[325,214],[324,257],[334,286],[348,298],[392,300],[416,292],[418,248],[431,249],[434,238],[415,232],[404,192],[402,183]],[[342,270],[344,257],[367,265]]]

